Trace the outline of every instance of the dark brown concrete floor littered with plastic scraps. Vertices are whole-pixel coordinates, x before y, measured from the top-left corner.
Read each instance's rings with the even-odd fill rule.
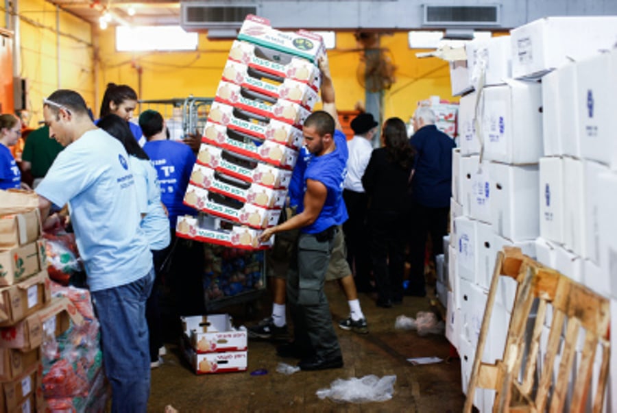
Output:
[[[346,318],[348,304],[337,283],[326,283],[326,295],[333,321]],[[428,310],[429,299],[405,297],[402,305],[389,309],[378,308],[370,295],[360,294],[360,301],[370,333],[359,335],[336,327],[343,368],[293,375],[277,373],[279,362],[295,364],[293,360],[279,358],[272,342],[250,340],[246,372],[195,375],[184,362],[176,340],[169,340],[163,364],[152,370],[148,411],[164,412],[166,405],[172,405],[180,412],[461,412],[465,398],[460,362],[448,360],[450,344],[446,337],[420,337],[416,331],[394,329],[398,315],[415,317],[418,311]],[[258,299],[254,308],[251,316],[247,316],[246,305],[219,312],[231,314],[236,325],[252,325],[269,315],[269,295]],[[428,356],[446,361],[420,366],[407,362],[407,358]],[[268,373],[250,375],[261,368]],[[329,388],[335,379],[365,375],[396,375],[394,397],[385,402],[358,404],[322,400],[315,394]]]

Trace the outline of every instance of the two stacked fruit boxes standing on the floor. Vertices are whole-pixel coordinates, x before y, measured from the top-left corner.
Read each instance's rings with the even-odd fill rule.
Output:
[[[182,327],[182,347],[195,373],[246,370],[246,328],[235,328],[228,314],[182,317]]]

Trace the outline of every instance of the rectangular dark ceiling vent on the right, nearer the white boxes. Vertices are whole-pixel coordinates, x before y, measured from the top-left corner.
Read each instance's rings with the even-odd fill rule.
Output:
[[[500,5],[429,5],[423,4],[423,26],[499,26]]]

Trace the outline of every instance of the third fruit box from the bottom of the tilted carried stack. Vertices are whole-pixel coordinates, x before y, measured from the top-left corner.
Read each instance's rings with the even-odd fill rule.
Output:
[[[217,192],[238,201],[268,209],[282,208],[287,196],[286,190],[275,190],[258,184],[250,184],[200,164],[193,166],[190,182],[210,192]]]

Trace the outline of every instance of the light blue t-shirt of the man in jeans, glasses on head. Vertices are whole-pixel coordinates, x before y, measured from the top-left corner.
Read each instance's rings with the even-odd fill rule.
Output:
[[[36,192],[69,204],[90,290],[130,284],[152,269],[129,157],[104,130],[88,131],[64,148]]]

